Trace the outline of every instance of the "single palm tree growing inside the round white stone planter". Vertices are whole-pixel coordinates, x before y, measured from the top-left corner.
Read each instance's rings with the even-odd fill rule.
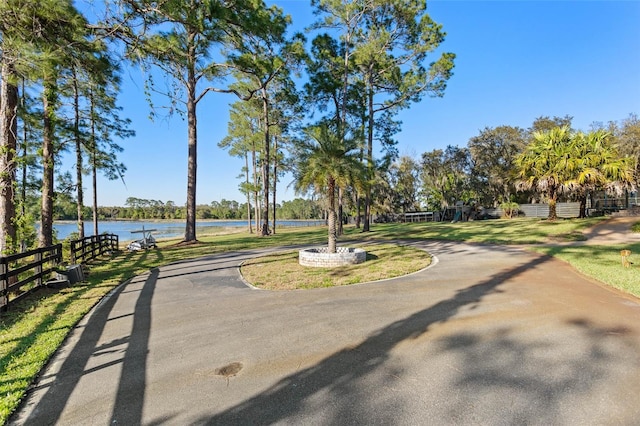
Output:
[[[300,157],[296,167],[296,190],[313,187],[325,192],[329,204],[328,251],[336,252],[336,190],[348,185],[360,185],[364,170],[359,161],[357,144],[341,140],[339,134],[326,123],[309,127],[308,140],[301,142]]]

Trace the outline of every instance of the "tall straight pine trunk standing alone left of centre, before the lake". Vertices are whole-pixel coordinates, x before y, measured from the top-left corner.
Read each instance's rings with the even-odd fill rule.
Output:
[[[188,52],[187,71],[187,126],[189,133],[187,156],[187,220],[184,232],[185,242],[197,241],[196,238],[196,179],[198,172],[198,123],[196,118],[196,77],[195,48]]]

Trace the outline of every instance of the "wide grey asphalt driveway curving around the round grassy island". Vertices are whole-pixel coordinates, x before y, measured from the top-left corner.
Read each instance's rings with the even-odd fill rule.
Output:
[[[15,424],[631,425],[640,304],[517,248],[424,242],[402,279],[268,292],[228,253],[121,286]]]

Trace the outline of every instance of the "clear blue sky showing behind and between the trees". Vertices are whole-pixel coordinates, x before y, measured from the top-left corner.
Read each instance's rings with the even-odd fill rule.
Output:
[[[315,20],[307,0],[270,3],[296,28]],[[441,51],[455,53],[456,66],[443,98],[425,97],[400,114],[401,155],[466,146],[485,127],[527,128],[539,116],[570,115],[575,128],[588,130],[640,113],[640,1],[432,0],[428,11],[447,32]],[[140,71],[127,68],[123,83],[120,104],[137,135],[122,142],[126,187],[100,179],[98,203],[137,197],[184,205],[186,119],[150,121]],[[217,147],[235,100],[211,93],[199,105],[198,204],[244,200],[237,189],[243,162]],[[290,180],[279,185],[280,199],[296,196]]]

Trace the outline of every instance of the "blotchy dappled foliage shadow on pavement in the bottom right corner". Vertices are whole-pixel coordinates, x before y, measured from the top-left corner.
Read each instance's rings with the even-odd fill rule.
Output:
[[[534,326],[535,327],[535,326]],[[624,327],[574,319],[552,334],[497,328],[463,331],[436,342],[437,354],[458,367],[445,386],[455,424],[633,424],[640,409],[637,346]],[[533,335],[533,337],[531,336]],[[636,376],[635,378],[630,377]]]

